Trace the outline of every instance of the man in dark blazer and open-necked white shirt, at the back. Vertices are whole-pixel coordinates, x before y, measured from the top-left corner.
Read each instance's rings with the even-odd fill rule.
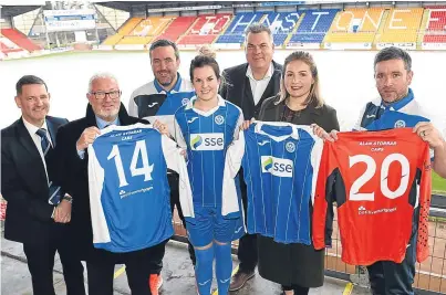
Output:
[[[220,95],[236,104],[243,112],[245,119],[257,118],[260,106],[268,97],[280,91],[282,65],[272,60],[274,43],[271,30],[263,24],[253,23],[246,31],[245,52],[248,63],[224,71],[227,85]],[[239,173],[242,178],[242,172]],[[240,181],[241,199],[247,211],[245,181]],[[257,265],[257,235],[246,234],[239,241],[239,270],[234,275],[229,291],[241,288],[253,277]]]

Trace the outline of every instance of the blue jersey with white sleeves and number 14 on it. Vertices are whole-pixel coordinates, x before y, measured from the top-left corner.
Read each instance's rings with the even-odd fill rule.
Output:
[[[167,168],[179,173],[183,211],[193,211],[186,161],[175,141],[149,125],[110,126],[89,146],[95,247],[131,252],[174,234]]]

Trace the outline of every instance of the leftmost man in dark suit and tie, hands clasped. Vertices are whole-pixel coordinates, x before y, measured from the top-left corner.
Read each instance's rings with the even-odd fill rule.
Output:
[[[55,134],[66,119],[46,116],[50,94],[37,76],[15,85],[22,117],[1,130],[1,193],[8,201],[4,238],[23,243],[34,295],[55,295],[53,267],[59,252],[66,294],[85,295],[83,266],[72,255],[71,198],[54,183]]]

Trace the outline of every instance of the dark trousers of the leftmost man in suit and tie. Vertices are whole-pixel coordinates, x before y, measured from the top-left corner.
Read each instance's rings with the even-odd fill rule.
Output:
[[[85,295],[84,267],[73,255],[72,244],[68,242],[68,224],[52,223],[46,241],[39,244],[23,244],[28,268],[31,273],[33,295],[55,295],[53,282],[54,255],[59,252],[66,295]]]

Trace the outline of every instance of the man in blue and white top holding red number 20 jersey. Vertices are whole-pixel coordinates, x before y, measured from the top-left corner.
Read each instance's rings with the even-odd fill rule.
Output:
[[[409,87],[412,72],[411,55],[398,48],[381,50],[374,60],[374,77],[380,97],[367,103],[361,110],[355,130],[381,130],[398,127],[412,127],[431,147],[432,168],[446,177],[445,135],[438,131],[443,127],[422,107],[419,99]],[[318,127],[317,134],[323,134]],[[336,131],[322,135],[325,139],[336,140]],[[415,277],[416,236],[418,233],[419,207],[414,210],[412,235],[406,254],[401,263],[378,261],[367,266],[372,293],[414,294],[412,284]]]

